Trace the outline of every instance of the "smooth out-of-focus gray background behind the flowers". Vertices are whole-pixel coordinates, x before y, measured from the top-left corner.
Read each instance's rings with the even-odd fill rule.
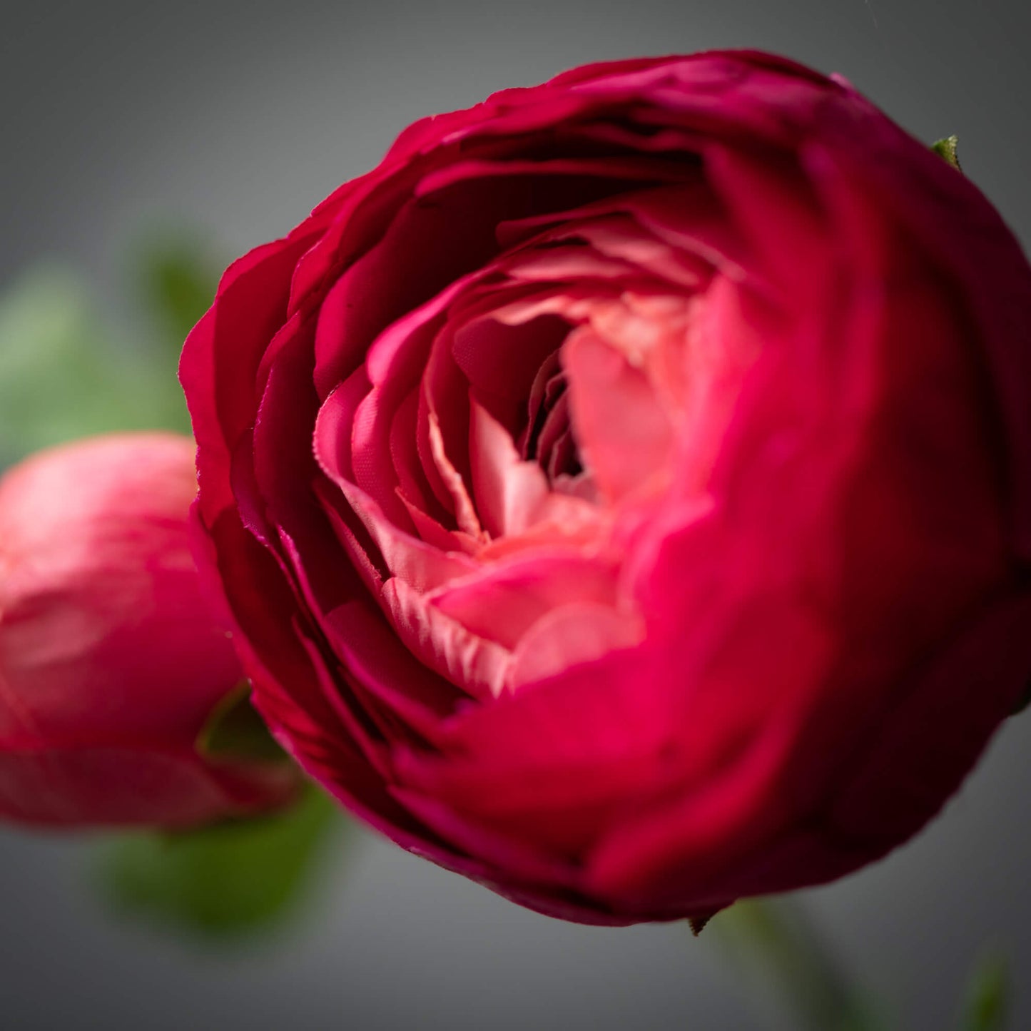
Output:
[[[1021,0],[6,0],[0,13],[0,288],[57,257],[113,304],[126,241],[156,218],[233,256],[420,115],[588,61],[723,45],[840,71],[928,141],[958,133],[968,174],[1031,239]],[[953,1026],[993,941],[1018,980],[1012,1027],[1031,1027],[1029,721],[918,840],[801,896],[905,1027]],[[551,921],[357,832],[308,920],[243,953],[112,921],[86,890],[85,849],[0,831],[5,1029],[792,1026],[705,937]]]

